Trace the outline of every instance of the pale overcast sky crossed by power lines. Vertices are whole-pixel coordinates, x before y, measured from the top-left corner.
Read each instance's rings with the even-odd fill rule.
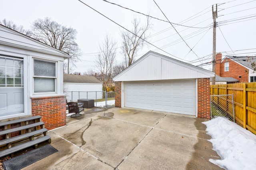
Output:
[[[142,14],[145,14],[157,19],[151,18],[148,43],[138,51],[136,59],[154,51],[185,63],[201,64],[210,70],[212,5],[215,11],[216,4],[216,53],[223,56],[256,55],[256,0],[1,0],[0,20],[11,20],[30,29],[33,21],[48,17],[76,29],[76,42],[82,53],[81,61],[72,72],[83,73],[97,70],[95,57],[106,35],[117,42],[114,63],[122,62],[120,32],[124,28],[132,30],[134,18],[144,25],[146,16]]]

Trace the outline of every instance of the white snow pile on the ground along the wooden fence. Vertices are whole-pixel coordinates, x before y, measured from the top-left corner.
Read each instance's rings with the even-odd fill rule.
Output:
[[[226,170],[256,170],[256,135],[223,117],[203,122],[221,160],[209,161]]]

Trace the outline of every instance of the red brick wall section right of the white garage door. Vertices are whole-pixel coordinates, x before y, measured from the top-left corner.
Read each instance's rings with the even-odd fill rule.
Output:
[[[210,78],[198,78],[198,118],[210,119]]]

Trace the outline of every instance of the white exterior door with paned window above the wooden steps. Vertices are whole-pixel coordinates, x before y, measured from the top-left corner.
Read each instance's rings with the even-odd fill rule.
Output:
[[[24,113],[23,60],[0,56],[0,117]]]

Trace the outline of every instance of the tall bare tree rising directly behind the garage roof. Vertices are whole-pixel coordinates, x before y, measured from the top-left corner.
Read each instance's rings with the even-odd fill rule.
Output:
[[[126,67],[134,63],[137,52],[143,47],[144,41],[149,37],[149,35],[146,35],[146,31],[151,28],[148,17],[145,25],[141,26],[140,20],[136,18],[132,21],[132,25],[132,33],[129,31],[121,31],[122,53]]]

